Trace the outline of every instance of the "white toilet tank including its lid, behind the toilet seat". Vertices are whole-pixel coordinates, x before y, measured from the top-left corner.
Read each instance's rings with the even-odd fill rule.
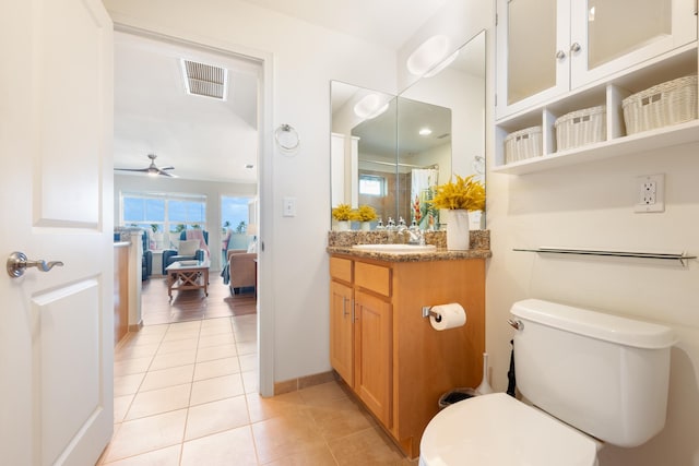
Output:
[[[538,299],[516,302],[517,386],[600,440],[637,446],[665,425],[673,332]]]

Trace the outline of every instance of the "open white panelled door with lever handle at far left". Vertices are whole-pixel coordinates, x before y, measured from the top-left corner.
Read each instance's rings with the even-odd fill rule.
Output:
[[[112,25],[99,0],[2,1],[0,463],[92,465],[112,431]]]

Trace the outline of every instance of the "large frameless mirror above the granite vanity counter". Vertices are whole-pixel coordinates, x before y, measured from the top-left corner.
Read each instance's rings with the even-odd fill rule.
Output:
[[[430,187],[452,172],[485,182],[485,32],[447,60],[398,96],[331,83],[333,207],[368,204],[383,223],[438,228]]]

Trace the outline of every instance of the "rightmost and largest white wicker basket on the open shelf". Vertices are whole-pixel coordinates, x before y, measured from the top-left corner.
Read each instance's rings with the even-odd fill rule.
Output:
[[[626,133],[633,134],[697,118],[697,75],[667,81],[621,101]]]

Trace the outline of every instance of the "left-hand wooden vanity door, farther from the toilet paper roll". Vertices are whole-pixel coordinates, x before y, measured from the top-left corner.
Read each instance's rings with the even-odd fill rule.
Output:
[[[354,386],[352,288],[330,282],[330,363]]]

